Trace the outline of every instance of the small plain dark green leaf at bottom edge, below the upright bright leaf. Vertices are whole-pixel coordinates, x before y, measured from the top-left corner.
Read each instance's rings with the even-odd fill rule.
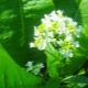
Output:
[[[58,88],[59,87],[59,79],[58,78],[51,78],[46,82],[45,88]]]

